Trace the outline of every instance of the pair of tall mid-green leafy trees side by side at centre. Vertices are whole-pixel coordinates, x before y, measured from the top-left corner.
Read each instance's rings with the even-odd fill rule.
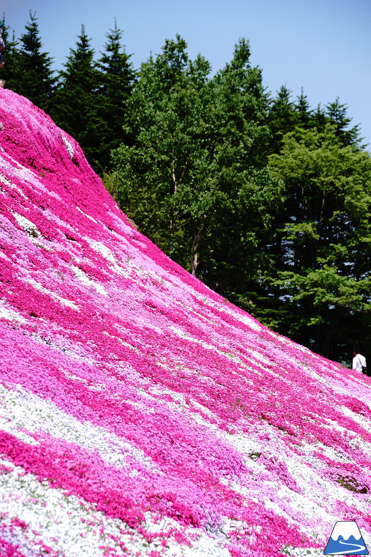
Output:
[[[265,168],[267,100],[249,44],[214,79],[177,36],[142,65],[127,104],[133,145],[113,154],[116,198],[166,253],[224,294],[259,265],[256,231],[280,184]],[[246,216],[248,215],[248,218]]]

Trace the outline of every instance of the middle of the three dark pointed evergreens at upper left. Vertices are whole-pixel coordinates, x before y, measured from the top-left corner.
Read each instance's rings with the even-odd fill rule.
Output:
[[[52,117],[80,143],[90,164],[99,172],[99,153],[108,134],[100,115],[102,76],[93,59],[94,50],[90,47],[84,25],[77,39],[76,50],[70,49],[65,70],[60,72]]]

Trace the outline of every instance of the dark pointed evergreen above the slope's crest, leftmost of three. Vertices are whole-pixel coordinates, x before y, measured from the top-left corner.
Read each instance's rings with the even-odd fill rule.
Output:
[[[52,58],[47,52],[41,51],[42,42],[36,12],[30,11],[29,18],[26,33],[23,33],[20,39],[19,51],[13,51],[15,55],[13,69],[11,67],[13,76],[11,74],[12,81],[9,86],[48,112],[56,82],[51,69]],[[13,46],[11,45],[11,48]]]

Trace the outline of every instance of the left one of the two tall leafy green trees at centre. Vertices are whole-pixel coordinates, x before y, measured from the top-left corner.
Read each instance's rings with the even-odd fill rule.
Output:
[[[121,145],[113,162],[124,210],[189,268],[184,227],[197,211],[191,185],[201,183],[205,170],[210,67],[201,57],[189,61],[185,47],[180,37],[166,41],[162,54],[142,65],[125,120],[133,145]]]

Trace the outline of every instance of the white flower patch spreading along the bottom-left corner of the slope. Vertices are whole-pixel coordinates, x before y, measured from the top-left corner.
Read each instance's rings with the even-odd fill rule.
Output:
[[[112,548],[118,557],[144,557],[151,551],[159,551],[163,557],[230,557],[223,544],[225,538],[215,539],[220,538],[220,532],[207,534],[202,529],[182,527],[169,517],[159,520],[151,512],[146,512],[142,526],[155,536],[148,543],[144,536],[120,519],[112,519],[97,511],[81,497],[66,496],[47,482],[39,482],[31,473],[23,475],[21,466],[14,466],[5,459],[0,459],[0,464],[11,468],[0,475],[1,535],[19,545],[19,550],[27,557],[39,557],[42,544],[68,557],[104,557],[107,548]],[[12,525],[12,520],[17,519],[26,522],[23,529]],[[174,534],[167,537],[166,532],[170,529],[182,532],[192,540],[191,546],[177,542]],[[166,536],[165,546],[161,544],[162,532]]]

